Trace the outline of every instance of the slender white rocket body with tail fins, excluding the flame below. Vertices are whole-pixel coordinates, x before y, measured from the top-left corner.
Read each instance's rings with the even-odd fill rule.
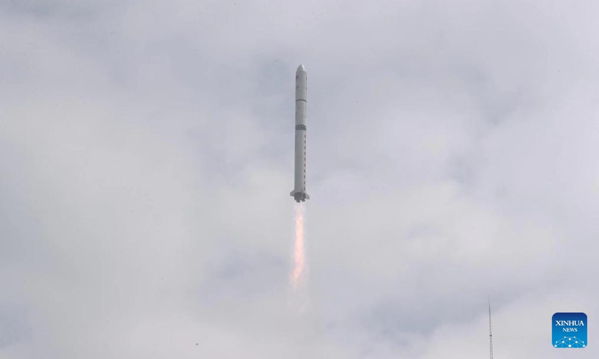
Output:
[[[304,65],[295,71],[295,185],[291,196],[295,202],[310,199],[305,192],[305,105],[308,91],[308,74]]]

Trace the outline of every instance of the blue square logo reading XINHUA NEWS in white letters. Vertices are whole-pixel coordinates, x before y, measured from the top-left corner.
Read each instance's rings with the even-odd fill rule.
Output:
[[[586,314],[556,313],[551,323],[553,348],[586,348]]]

